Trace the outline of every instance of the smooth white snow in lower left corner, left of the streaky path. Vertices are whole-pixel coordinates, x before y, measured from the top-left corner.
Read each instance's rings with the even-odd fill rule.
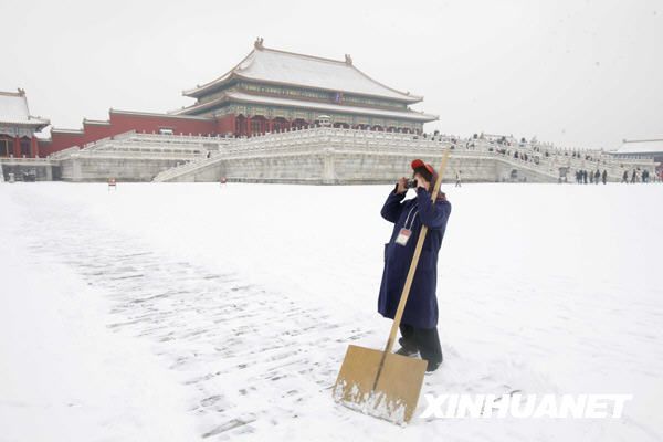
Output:
[[[25,208],[4,190],[0,441],[193,440],[186,389],[148,346],[106,328],[109,299],[76,269],[34,253],[25,232],[39,220],[17,217]]]

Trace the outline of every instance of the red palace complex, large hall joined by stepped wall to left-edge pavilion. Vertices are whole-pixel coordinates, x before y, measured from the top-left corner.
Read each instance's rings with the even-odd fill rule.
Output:
[[[196,98],[196,103],[169,113],[112,108],[106,120],[84,118],[82,128],[53,127],[50,138],[38,140],[34,131],[48,126],[49,120],[29,116],[24,92],[4,93],[0,103],[6,104],[0,106],[0,112],[11,107],[11,118],[18,118],[20,125],[6,117],[7,134],[0,138],[3,140],[0,155],[43,157],[130,130],[251,137],[329,125],[420,134],[424,123],[438,119],[435,115],[410,108],[423,99],[421,96],[372,80],[354,65],[349,55],[338,61],[296,54],[267,49],[262,39],[257,39],[249,55],[229,72],[185,91],[183,95]],[[8,104],[10,102],[13,104]]]

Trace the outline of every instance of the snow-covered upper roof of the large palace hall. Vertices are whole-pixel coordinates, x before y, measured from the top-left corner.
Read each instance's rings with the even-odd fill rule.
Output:
[[[255,49],[228,73],[202,86],[185,91],[183,94],[192,97],[203,95],[213,86],[232,77],[347,92],[408,103],[423,99],[421,96],[393,90],[372,80],[352,65],[349,55],[346,55],[345,61],[322,59],[267,49],[257,42]]]

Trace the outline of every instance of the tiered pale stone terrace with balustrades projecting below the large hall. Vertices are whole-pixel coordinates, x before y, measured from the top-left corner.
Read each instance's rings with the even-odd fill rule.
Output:
[[[234,139],[220,151],[213,152],[210,158],[197,159],[165,170],[152,181],[215,181],[227,176],[230,180],[265,182],[388,182],[393,179],[393,173],[403,167],[407,168],[412,158],[430,158],[432,161],[432,158],[440,157],[444,148],[450,147],[452,143],[449,137],[431,139],[409,134],[335,128],[265,134]],[[354,158],[349,166],[348,157]],[[490,167],[497,164],[501,166],[495,166],[496,168],[508,169],[508,173],[513,169],[518,170],[522,177],[518,180],[557,182],[559,165],[541,158],[539,157],[537,162],[525,161],[501,155],[488,145],[478,148],[475,146],[472,149],[454,145],[451,164],[454,165],[454,170],[467,171],[469,173],[464,172],[464,178],[473,181],[499,180],[494,168]],[[368,159],[370,164],[375,164],[377,172],[366,165]],[[472,166],[476,161],[482,161],[482,171]],[[245,166],[246,164],[254,166]],[[311,164],[314,166],[311,167]],[[256,175],[252,173],[254,170],[245,170],[244,167],[263,171]],[[297,170],[302,170],[303,175],[299,176]],[[448,173],[448,177],[451,175]]]

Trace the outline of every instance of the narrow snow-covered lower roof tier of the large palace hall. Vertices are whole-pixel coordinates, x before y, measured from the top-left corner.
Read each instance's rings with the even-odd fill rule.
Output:
[[[436,115],[419,113],[414,110],[410,112],[399,112],[399,110],[386,110],[386,109],[377,109],[373,107],[357,107],[357,106],[344,106],[337,105],[333,103],[319,103],[319,102],[307,102],[302,99],[292,99],[292,98],[277,98],[277,97],[266,97],[266,96],[257,96],[252,94],[244,94],[241,92],[228,92],[223,94],[220,98],[217,98],[212,102],[204,103],[199,106],[187,107],[180,112],[190,112],[196,107],[208,107],[218,103],[227,102],[227,101],[239,101],[243,103],[255,103],[255,104],[267,104],[275,106],[285,106],[285,107],[301,107],[306,109],[316,109],[324,112],[344,112],[350,114],[361,114],[361,115],[376,115],[385,118],[403,118],[403,119],[413,119],[418,122],[432,122],[438,119]]]

